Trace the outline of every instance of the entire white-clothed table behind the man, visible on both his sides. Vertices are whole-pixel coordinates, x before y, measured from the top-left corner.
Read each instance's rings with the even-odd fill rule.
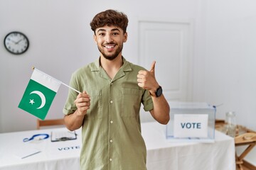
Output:
[[[23,138],[38,133],[50,134],[53,130],[0,134],[0,170],[79,169],[80,130],[77,130],[78,140],[50,142],[48,138],[23,142]],[[148,170],[235,169],[234,140],[218,131],[215,131],[215,142],[210,144],[170,142],[165,138],[165,125],[159,123],[142,123],[142,135],[146,142]],[[41,152],[24,159],[17,156],[30,149]]]

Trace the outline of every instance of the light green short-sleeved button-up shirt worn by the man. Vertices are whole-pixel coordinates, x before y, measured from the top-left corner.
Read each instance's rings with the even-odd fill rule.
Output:
[[[90,109],[82,126],[81,170],[144,170],[146,146],[141,135],[139,110],[153,109],[148,91],[137,84],[144,69],[123,58],[114,79],[100,60],[73,73],[70,86],[90,95]],[[78,94],[70,90],[63,113],[74,113]]]

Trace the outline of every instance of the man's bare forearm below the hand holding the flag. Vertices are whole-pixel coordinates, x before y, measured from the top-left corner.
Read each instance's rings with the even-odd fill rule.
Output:
[[[84,118],[85,118],[84,115],[78,114],[78,110],[75,111],[75,113],[65,115],[64,117],[65,126],[70,131],[78,130],[82,126]]]

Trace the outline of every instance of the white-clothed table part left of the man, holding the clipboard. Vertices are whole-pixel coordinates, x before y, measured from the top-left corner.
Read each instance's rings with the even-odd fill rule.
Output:
[[[26,137],[44,133],[50,135],[53,130],[59,130],[59,128],[0,134],[0,170],[80,169],[80,130],[76,130],[78,140],[50,142],[49,137],[46,140],[23,142]],[[66,129],[63,128],[63,130]],[[24,159],[18,157],[19,154],[24,154],[31,149],[37,149],[41,152]]]

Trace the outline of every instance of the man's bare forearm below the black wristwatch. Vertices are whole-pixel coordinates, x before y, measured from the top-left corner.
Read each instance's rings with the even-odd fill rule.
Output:
[[[150,111],[151,115],[156,121],[166,125],[170,120],[170,106],[169,103],[166,101],[164,94],[159,97],[152,96],[152,101],[154,109]]]

